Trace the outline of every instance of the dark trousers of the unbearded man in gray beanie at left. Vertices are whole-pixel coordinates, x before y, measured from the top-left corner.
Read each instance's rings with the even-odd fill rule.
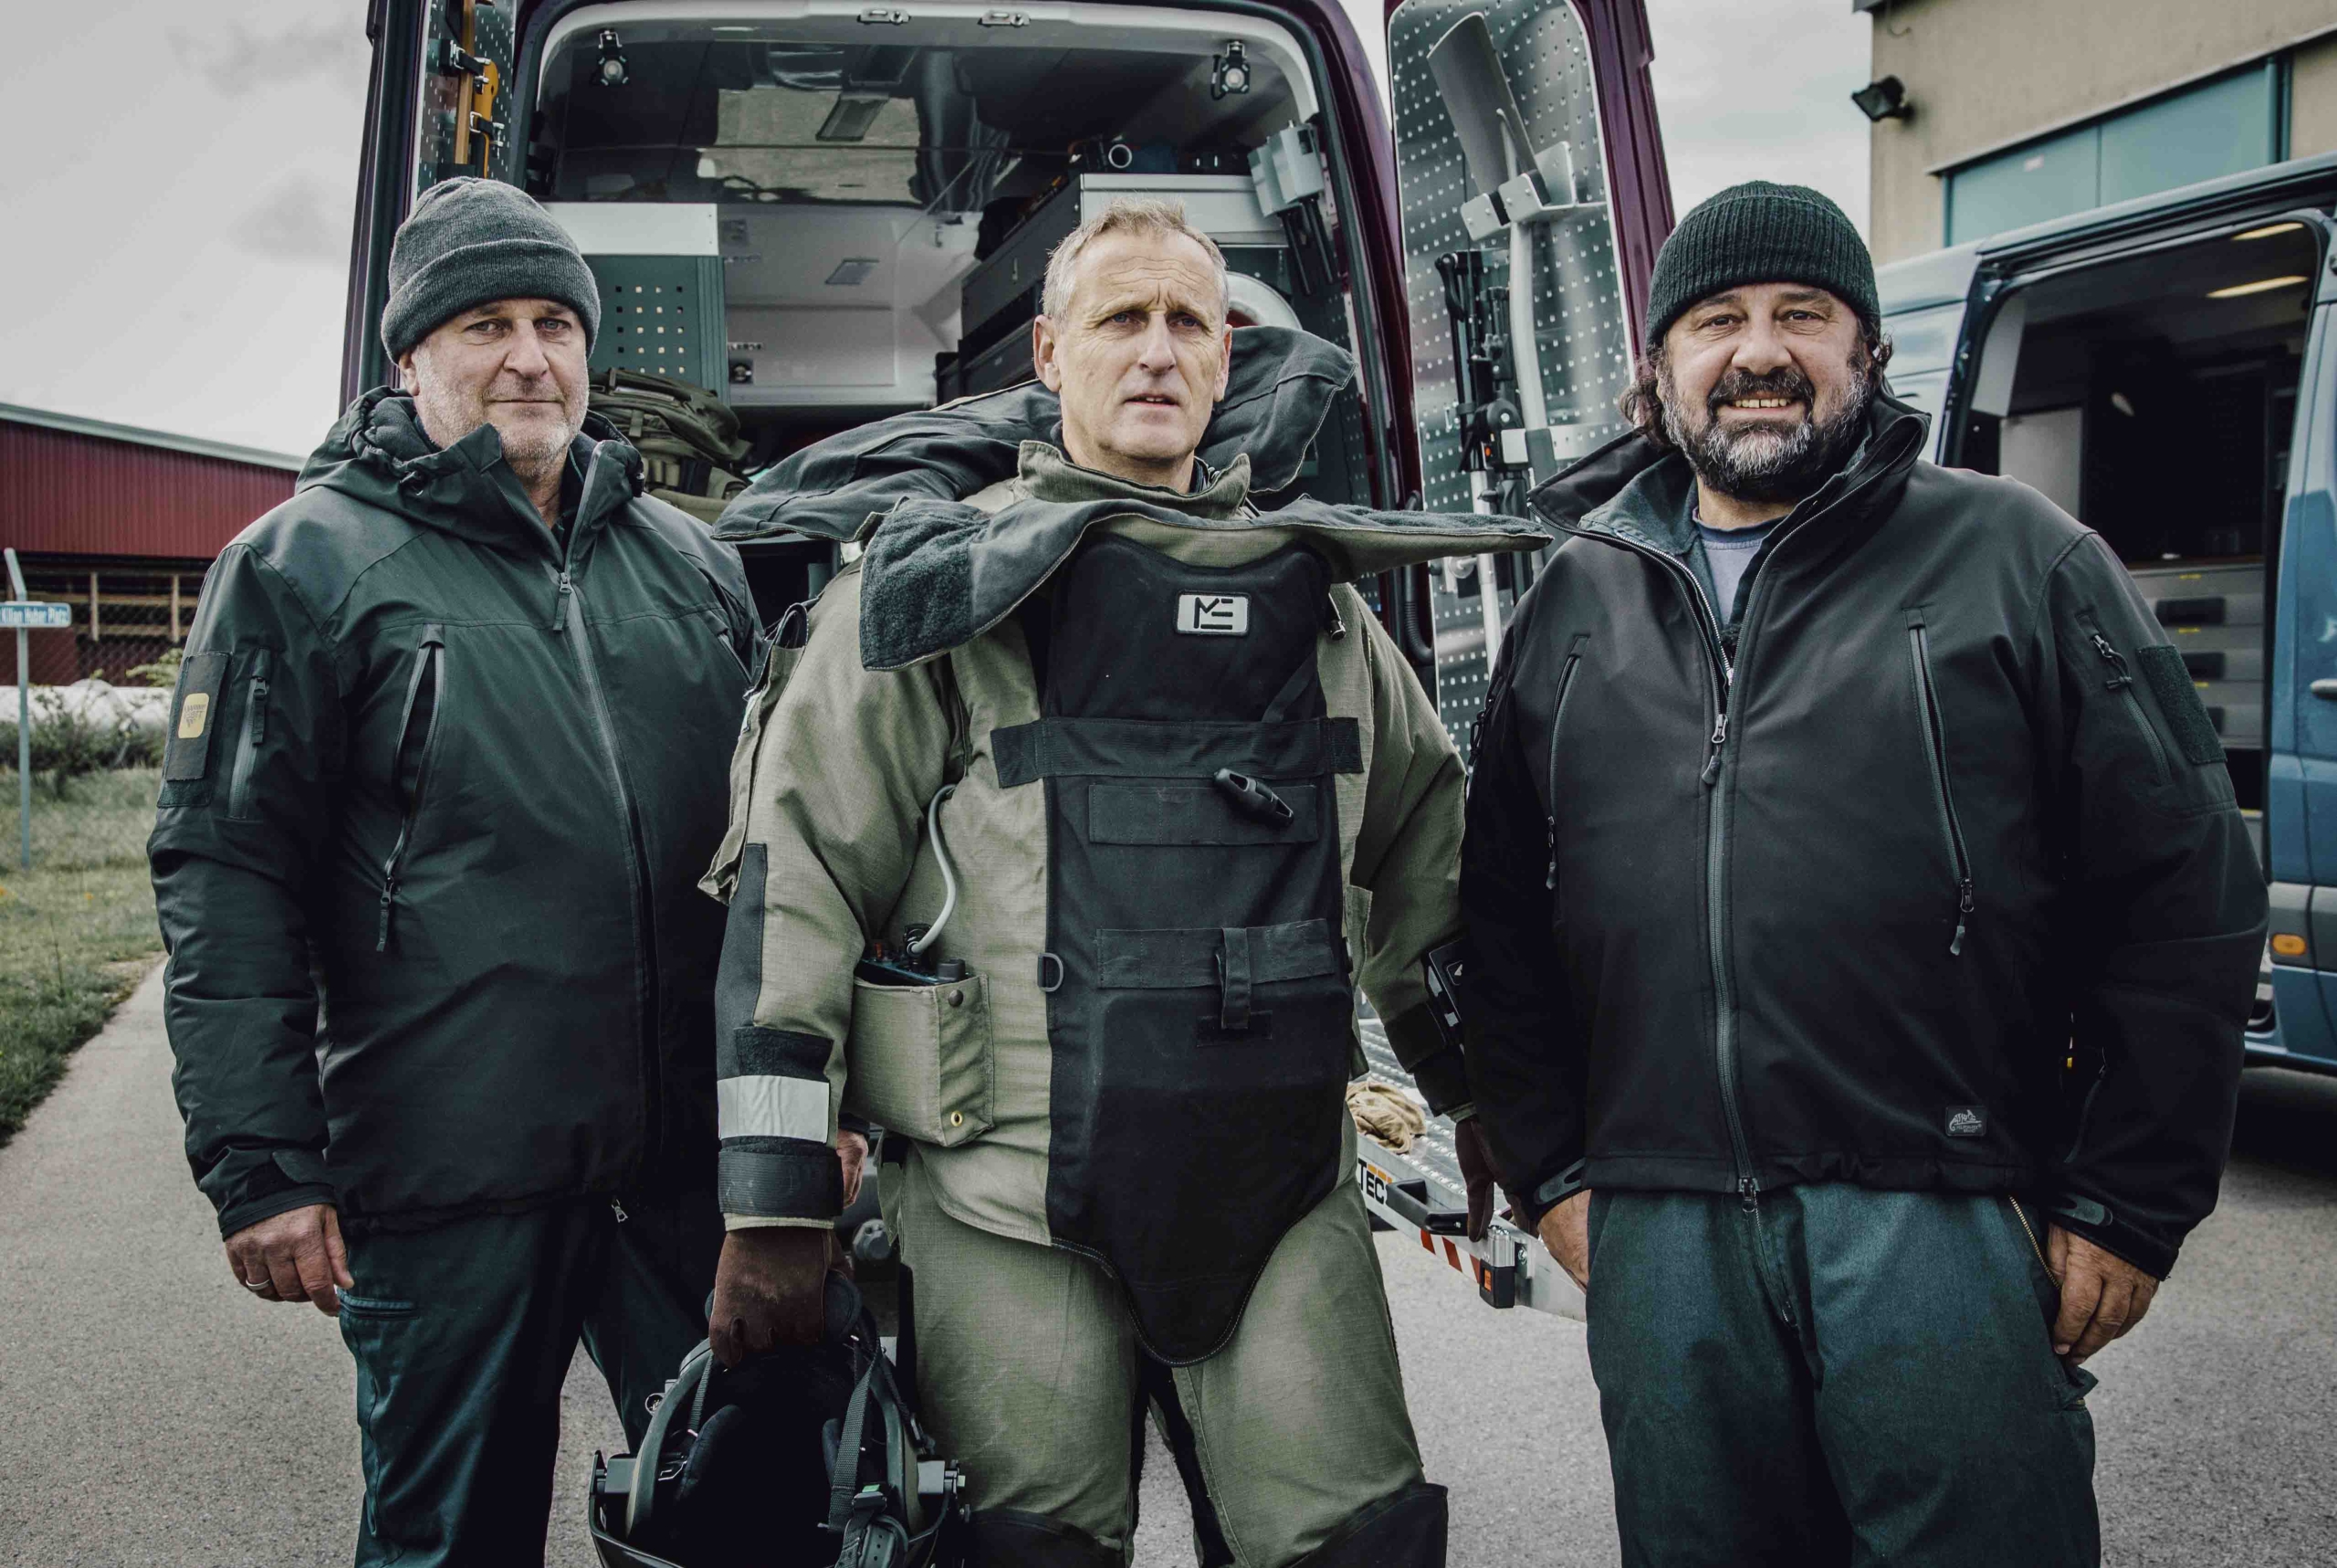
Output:
[[[358,1566],[545,1561],[561,1383],[577,1339],[640,1442],[650,1395],[706,1339],[713,1194],[573,1199],[348,1239],[341,1339],[358,1360]]]

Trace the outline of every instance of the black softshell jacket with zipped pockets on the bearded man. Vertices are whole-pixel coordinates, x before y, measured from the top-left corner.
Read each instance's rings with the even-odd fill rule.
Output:
[[[1535,493],[1468,799],[1470,1080],[1503,1182],[2026,1192],[2166,1274],[2215,1206],[2265,883],[2099,535],[1877,402],[1732,645],[1685,458]]]

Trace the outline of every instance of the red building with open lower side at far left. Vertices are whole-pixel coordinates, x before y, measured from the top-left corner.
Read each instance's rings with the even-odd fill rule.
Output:
[[[292,495],[299,458],[0,404],[0,544],[72,631],[30,636],[33,685],[131,668],[178,647],[210,561]],[[0,685],[16,638],[0,636]]]

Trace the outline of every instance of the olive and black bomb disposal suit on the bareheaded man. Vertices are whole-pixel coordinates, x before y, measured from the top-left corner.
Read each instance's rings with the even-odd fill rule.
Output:
[[[1124,1561],[1145,1367],[1241,1563],[1444,1561],[1344,1087],[1360,981],[1461,1108],[1421,960],[1458,930],[1463,776],[1351,582],[1547,535],[1255,512],[1351,365],[1267,329],[1234,362],[1190,493],[1012,439],[1054,432],[1017,388],[781,474],[844,491],[750,495],[792,528],[858,495],[867,549],[778,638],[734,766],[722,1208],[832,1222],[839,1112],[904,1150],[886,1210],[979,1561]],[[921,446],[961,493],[982,451],[1014,470],[890,505]],[[932,979],[862,963],[925,925]]]

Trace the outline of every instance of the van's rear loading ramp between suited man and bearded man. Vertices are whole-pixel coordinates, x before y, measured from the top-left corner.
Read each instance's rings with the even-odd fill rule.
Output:
[[[1379,1019],[1362,1019],[1362,1082],[1388,1084],[1405,1098],[1426,1103],[1412,1087],[1412,1075],[1395,1059],[1388,1031]],[[1372,1220],[1393,1231],[1412,1231],[1421,1250],[1465,1274],[1486,1306],[1531,1306],[1582,1323],[1582,1292],[1556,1260],[1517,1224],[1493,1215],[1484,1241],[1468,1239],[1468,1187],[1461,1182],[1461,1154],[1454,1150],[1454,1124],[1428,1117],[1426,1131],[1409,1150],[1391,1150],[1365,1131],[1355,1131],[1355,1185]]]

